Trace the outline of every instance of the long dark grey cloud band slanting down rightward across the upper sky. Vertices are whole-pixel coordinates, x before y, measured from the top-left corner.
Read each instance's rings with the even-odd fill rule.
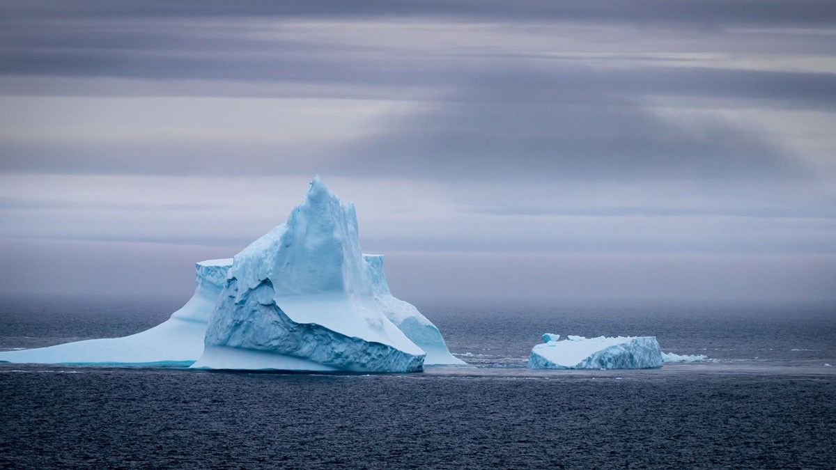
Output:
[[[391,97],[391,89],[445,89],[451,81],[486,81],[490,79],[484,77],[486,69],[490,73],[499,66],[528,69],[537,64],[553,71],[551,75],[543,74],[547,82],[559,74],[567,85],[595,80],[602,88],[635,95],[772,100],[808,108],[832,106],[836,102],[836,78],[827,73],[665,66],[665,62],[675,59],[641,59],[641,66],[589,74],[584,56],[572,62],[566,56],[544,59],[525,52],[502,57],[490,51],[431,54],[385,45],[373,48],[313,39],[256,39],[248,31],[247,25],[217,28],[211,23],[129,24],[125,28],[77,24],[44,33],[32,25],[13,26],[0,34],[0,74],[349,85],[363,88],[367,96]],[[829,51],[836,47],[836,36],[815,41],[808,38],[803,43],[829,44]],[[619,60],[630,64],[630,57],[626,54]],[[189,86],[183,84],[182,91],[188,94]],[[223,84],[215,92],[224,95]],[[531,92],[538,94],[538,99],[542,97],[538,89]],[[412,99],[415,94],[401,98]]]

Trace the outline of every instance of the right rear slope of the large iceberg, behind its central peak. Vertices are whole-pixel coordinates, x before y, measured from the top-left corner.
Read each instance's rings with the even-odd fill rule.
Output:
[[[407,338],[426,352],[424,365],[464,365],[463,360],[450,354],[441,331],[435,324],[426,319],[415,305],[392,295],[383,271],[383,255],[364,254],[363,258],[369,265],[372,291],[380,310]]]

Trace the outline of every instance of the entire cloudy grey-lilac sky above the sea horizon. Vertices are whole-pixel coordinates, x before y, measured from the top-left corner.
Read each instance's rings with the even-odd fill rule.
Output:
[[[836,299],[836,3],[0,3],[0,294],[178,295],[319,174],[403,299]]]

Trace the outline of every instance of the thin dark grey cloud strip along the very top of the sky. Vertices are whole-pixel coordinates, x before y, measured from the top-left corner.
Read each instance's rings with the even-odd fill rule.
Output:
[[[5,2],[5,13],[39,18],[391,18],[434,17],[481,20],[599,21],[630,23],[716,24],[831,24],[836,22],[833,3],[815,0],[701,0],[670,2],[604,0],[589,3],[521,0],[433,0],[387,2],[384,0],[312,0],[309,2],[203,0],[171,3],[165,0],[125,2]]]

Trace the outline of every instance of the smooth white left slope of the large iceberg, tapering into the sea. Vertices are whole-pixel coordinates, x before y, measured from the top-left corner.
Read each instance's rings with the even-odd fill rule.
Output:
[[[206,325],[231,264],[232,259],[197,263],[195,294],[170,319],[150,330],[123,338],[3,351],[0,360],[41,364],[190,365],[203,352]]]

